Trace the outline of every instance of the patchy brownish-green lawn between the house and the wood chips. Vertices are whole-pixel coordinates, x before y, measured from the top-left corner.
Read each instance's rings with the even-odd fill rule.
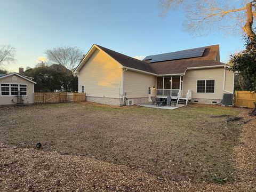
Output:
[[[234,108],[190,105],[175,110],[61,103],[0,108],[7,145],[86,155],[141,168],[173,181],[233,181],[231,149],[240,127]]]

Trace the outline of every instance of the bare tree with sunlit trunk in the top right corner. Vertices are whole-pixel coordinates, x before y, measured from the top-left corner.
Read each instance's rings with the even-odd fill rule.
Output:
[[[159,7],[161,17],[171,9],[185,11],[185,30],[195,35],[205,35],[216,29],[228,33],[242,29],[248,37],[256,37],[253,30],[256,0],[159,0]]]

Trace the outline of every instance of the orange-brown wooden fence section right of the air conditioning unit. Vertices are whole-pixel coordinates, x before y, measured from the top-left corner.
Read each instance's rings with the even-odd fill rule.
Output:
[[[256,93],[250,91],[235,91],[235,106],[254,108]]]

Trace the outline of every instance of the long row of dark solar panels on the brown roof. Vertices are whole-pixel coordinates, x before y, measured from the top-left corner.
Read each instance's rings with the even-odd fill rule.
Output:
[[[195,57],[202,57],[204,53],[205,47],[199,47],[195,49],[183,50],[183,51],[175,51],[171,53],[163,53],[157,55],[149,55],[143,60],[150,60],[150,62],[159,62],[159,61],[170,61],[177,59],[188,59]]]

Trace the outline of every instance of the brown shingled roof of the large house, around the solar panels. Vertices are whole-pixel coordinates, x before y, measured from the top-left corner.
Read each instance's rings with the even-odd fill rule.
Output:
[[[154,61],[150,63],[151,58],[156,55],[150,55],[146,57],[144,60],[138,60],[122,53],[118,53],[116,51],[107,49],[106,47],[102,47],[100,45],[93,44],[90,51],[85,55],[83,60],[79,63],[75,71],[79,71],[82,68],[83,61],[86,58],[89,58],[95,50],[102,50],[107,53],[111,58],[120,63],[124,68],[131,68],[135,70],[140,70],[141,72],[145,71],[147,73],[151,73],[154,75],[171,75],[171,74],[185,74],[186,70],[189,68],[195,67],[221,67],[226,65],[225,63],[219,62],[219,45],[211,45],[205,47],[199,47],[198,50],[201,50],[199,53],[201,56],[192,57],[192,58],[181,58],[181,59],[173,59],[173,60],[164,60],[164,61]],[[186,53],[186,51],[197,50],[190,49],[179,51],[182,53]],[[202,51],[203,50],[203,51]],[[173,52],[174,54],[177,52]],[[167,53],[169,55],[173,55],[172,53]],[[159,55],[159,54],[158,54]],[[157,57],[158,57],[157,55]],[[161,55],[165,55],[161,54]]]

